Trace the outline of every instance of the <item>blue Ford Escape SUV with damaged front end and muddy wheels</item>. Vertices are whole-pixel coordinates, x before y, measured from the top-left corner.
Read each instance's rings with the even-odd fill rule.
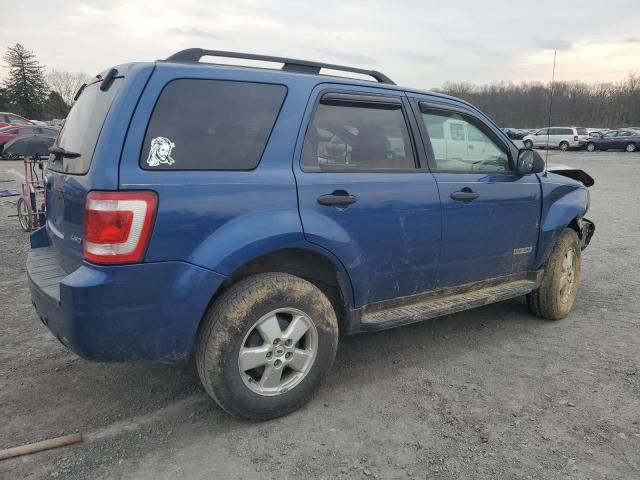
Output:
[[[560,173],[376,71],[201,49],[120,65],[51,148],[33,303],[86,359],[195,359],[225,411],[268,419],[311,398],[339,335],[521,295],[566,316],[594,226],[590,177]]]

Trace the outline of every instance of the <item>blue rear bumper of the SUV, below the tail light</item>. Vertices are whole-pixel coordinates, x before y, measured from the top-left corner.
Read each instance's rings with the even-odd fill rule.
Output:
[[[224,281],[222,275],[183,262],[83,263],[67,275],[52,250],[45,246],[29,253],[33,304],[51,333],[89,360],[189,358],[200,320]]]

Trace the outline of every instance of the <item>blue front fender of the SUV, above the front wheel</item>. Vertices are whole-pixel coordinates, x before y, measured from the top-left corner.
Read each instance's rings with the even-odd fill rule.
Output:
[[[580,182],[554,173],[540,175],[542,188],[542,221],[536,265],[541,266],[549,256],[558,235],[574,219],[587,211],[589,195]]]

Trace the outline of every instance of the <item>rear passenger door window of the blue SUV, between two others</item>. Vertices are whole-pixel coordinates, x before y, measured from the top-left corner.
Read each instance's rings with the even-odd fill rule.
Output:
[[[302,149],[305,172],[415,169],[401,104],[318,104]]]

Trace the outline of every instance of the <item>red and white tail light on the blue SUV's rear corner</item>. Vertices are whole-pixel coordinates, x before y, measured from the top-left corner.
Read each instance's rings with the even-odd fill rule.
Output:
[[[158,198],[148,191],[89,192],[84,214],[84,258],[99,264],[141,262]]]

